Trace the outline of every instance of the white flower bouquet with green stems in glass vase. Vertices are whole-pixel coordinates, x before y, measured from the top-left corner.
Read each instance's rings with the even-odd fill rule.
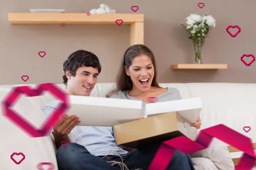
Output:
[[[185,23],[180,23],[189,32],[189,39],[193,40],[195,47],[195,63],[202,64],[201,50],[210,27],[215,27],[215,19],[211,15],[190,14]]]

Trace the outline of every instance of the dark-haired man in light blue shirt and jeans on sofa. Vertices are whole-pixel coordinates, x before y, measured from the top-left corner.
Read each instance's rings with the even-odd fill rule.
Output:
[[[90,96],[101,72],[101,65],[98,57],[92,52],[78,50],[70,54],[64,62],[63,70],[67,94]],[[49,116],[56,105],[57,100],[45,105],[42,108],[45,116]],[[79,122],[75,115],[63,115],[53,127],[59,170],[120,170],[124,166],[129,170],[146,170],[159,147],[159,144],[148,144],[129,153],[116,145],[112,127],[77,126]],[[68,146],[61,146],[62,141],[68,141]],[[120,163],[122,161],[123,163]],[[167,170],[194,168],[188,155],[176,151]]]

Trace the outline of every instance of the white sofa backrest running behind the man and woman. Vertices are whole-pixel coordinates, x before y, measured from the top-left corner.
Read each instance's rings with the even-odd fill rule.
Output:
[[[57,84],[61,89],[65,85]],[[105,97],[114,83],[97,83],[91,96]],[[22,85],[2,85],[0,91]],[[31,85],[35,87],[35,85]],[[203,108],[200,113],[201,129],[218,124],[227,125],[256,142],[256,84],[250,83],[161,83],[161,87],[175,87],[183,99],[201,97]],[[32,97],[39,107],[54,98],[49,94]],[[250,126],[246,133],[244,126]]]

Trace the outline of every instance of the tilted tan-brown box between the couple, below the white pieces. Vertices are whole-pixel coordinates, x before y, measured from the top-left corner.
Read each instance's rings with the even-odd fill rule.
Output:
[[[116,144],[137,149],[149,142],[163,142],[186,136],[184,124],[182,116],[170,112],[115,125]]]

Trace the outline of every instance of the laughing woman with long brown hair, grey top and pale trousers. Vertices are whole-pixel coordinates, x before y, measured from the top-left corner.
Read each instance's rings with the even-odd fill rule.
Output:
[[[142,101],[142,116],[145,114],[145,105],[150,102],[149,98],[155,97],[156,102],[181,99],[177,88],[160,88],[157,83],[154,54],[145,45],[132,45],[125,51],[116,77],[116,88],[107,97]],[[191,126],[199,129],[201,119],[198,118]],[[192,159],[196,170],[234,170],[226,146],[210,145],[209,148],[192,153],[191,156],[197,157]]]

